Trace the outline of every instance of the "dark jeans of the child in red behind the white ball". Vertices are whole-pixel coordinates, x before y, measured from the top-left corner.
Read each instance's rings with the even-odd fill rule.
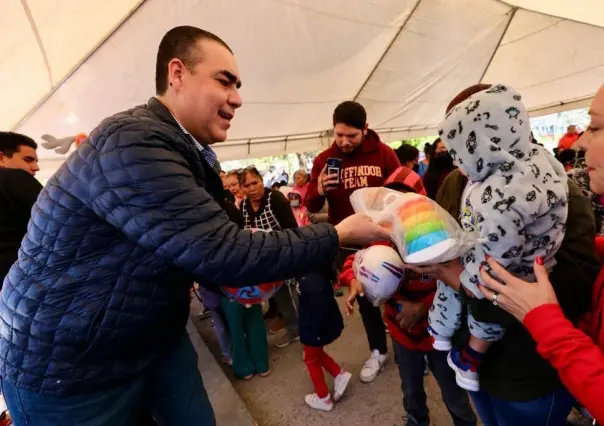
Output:
[[[434,375],[442,399],[449,410],[455,426],[476,426],[476,415],[465,390],[457,386],[455,372],[447,364],[447,353],[441,351],[413,351],[392,339],[396,364],[401,377],[403,407],[418,424],[428,425],[428,406],[424,390],[424,356],[428,358],[430,371]],[[423,423],[421,423],[423,421]]]

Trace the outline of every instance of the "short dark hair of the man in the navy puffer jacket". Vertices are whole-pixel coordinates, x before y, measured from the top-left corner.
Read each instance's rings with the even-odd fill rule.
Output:
[[[195,52],[196,43],[199,40],[215,41],[233,53],[224,40],[209,31],[190,26],[172,28],[161,39],[159,48],[157,49],[155,92],[158,95],[163,95],[168,90],[168,64],[172,59],[180,59],[189,70],[192,70],[201,60]]]

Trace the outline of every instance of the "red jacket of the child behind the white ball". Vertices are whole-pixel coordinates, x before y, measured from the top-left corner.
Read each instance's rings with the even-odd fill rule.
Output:
[[[387,242],[376,243],[380,245],[389,245]],[[340,273],[340,283],[347,287],[354,278],[352,263],[354,254],[346,259],[342,272]],[[404,282],[400,290],[385,304],[384,321],[388,326],[388,331],[392,338],[400,345],[412,351],[430,352],[432,347],[432,336],[428,333],[428,315],[415,324],[410,329],[402,329],[396,320],[398,314],[396,302],[409,301],[414,303],[423,303],[426,312],[432,306],[434,295],[436,294],[436,280],[425,275],[418,275],[410,270],[405,271]]]

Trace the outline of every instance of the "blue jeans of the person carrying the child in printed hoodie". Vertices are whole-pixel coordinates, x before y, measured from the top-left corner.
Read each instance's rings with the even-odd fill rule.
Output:
[[[575,402],[566,389],[530,401],[504,401],[485,391],[470,392],[485,426],[564,426]]]

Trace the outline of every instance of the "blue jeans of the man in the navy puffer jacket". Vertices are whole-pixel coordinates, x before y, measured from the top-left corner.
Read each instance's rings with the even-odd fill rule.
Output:
[[[141,406],[161,426],[216,425],[187,334],[157,366],[115,388],[59,397],[3,381],[2,393],[15,426],[131,426]]]

